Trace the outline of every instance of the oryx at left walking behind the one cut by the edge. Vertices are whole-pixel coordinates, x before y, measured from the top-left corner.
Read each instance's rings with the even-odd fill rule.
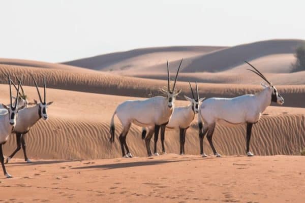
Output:
[[[20,110],[20,112],[18,113],[17,123],[13,129],[13,132],[16,133],[17,148],[7,158],[6,163],[8,163],[10,161],[10,159],[13,158],[13,156],[21,149],[21,146],[22,146],[22,150],[23,150],[23,154],[24,154],[24,160],[27,163],[31,163],[31,160],[29,160],[26,156],[25,134],[31,129],[31,127],[39,119],[41,119],[41,118],[43,118],[44,120],[48,119],[46,109],[48,108],[49,105],[51,105],[53,103],[53,101],[46,103],[46,78],[45,77],[43,78],[44,100],[42,100],[40,91],[38,89],[37,82],[32,75],[31,75],[31,77],[35,83],[40,103],[38,103],[37,100],[34,99],[34,103],[28,103],[28,105],[31,105],[31,107],[26,107],[26,108]],[[22,85],[20,85],[20,87],[22,88]],[[23,92],[23,95],[25,95],[23,90],[22,90],[22,92]],[[24,97],[24,98],[26,98],[26,97]],[[32,105],[34,105],[34,106],[32,106]]]

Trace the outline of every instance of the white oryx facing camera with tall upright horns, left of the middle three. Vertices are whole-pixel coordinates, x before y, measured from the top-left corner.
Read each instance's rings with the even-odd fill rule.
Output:
[[[183,59],[182,59],[183,60]],[[175,91],[175,86],[178,78],[178,73],[180,70],[180,66],[182,63],[180,61],[175,82],[173,88],[170,89],[170,77],[169,77],[169,64],[167,61],[167,86],[168,89],[162,90],[166,93],[166,97],[163,96],[155,96],[148,99],[143,100],[127,100],[124,103],[121,103],[117,106],[116,110],[113,113],[110,123],[110,142],[114,142],[114,115],[117,114],[118,119],[120,120],[123,130],[119,135],[119,141],[121,145],[121,150],[123,157],[132,157],[128,146],[126,144],[126,136],[128,130],[132,123],[144,127],[144,126],[154,126],[155,128],[155,151],[154,154],[158,155],[157,153],[157,141],[159,135],[160,126],[165,126],[174,110],[175,98],[181,92],[181,90]],[[148,156],[151,156],[150,151],[150,139],[145,139],[145,144],[147,148]],[[125,149],[127,151],[127,155],[125,154]]]

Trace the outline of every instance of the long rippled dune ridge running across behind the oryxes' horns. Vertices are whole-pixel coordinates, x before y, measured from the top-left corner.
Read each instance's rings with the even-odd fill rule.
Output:
[[[3,64],[0,64],[0,71],[10,71],[10,73],[15,73],[17,75],[24,74],[24,85],[34,85],[29,76],[29,73],[32,73],[36,78],[46,75],[47,87],[50,88],[112,95],[150,97],[160,95],[159,88],[166,88],[167,86],[167,82],[164,80],[123,77],[105,72],[78,73],[59,69],[53,70]],[[298,77],[300,73],[294,73],[293,75]],[[7,84],[5,76],[3,74],[0,74],[0,76],[0,83]],[[183,76],[184,75],[181,74],[182,79]],[[253,75],[251,76],[253,77]],[[258,77],[255,76],[253,78],[257,80]],[[293,81],[295,79],[292,77],[290,80]],[[299,80],[302,79],[299,78]],[[260,81],[257,81],[257,84],[259,84],[259,82]],[[42,85],[42,79],[38,80],[38,84]],[[177,88],[183,90],[179,98],[184,99],[183,94],[191,95],[187,82],[177,82]],[[284,98],[286,98],[285,106],[305,107],[305,104],[302,102],[305,98],[304,85],[278,85],[277,88]],[[241,94],[255,93],[259,90],[261,90],[260,85],[199,84],[199,92],[202,97],[234,97]]]

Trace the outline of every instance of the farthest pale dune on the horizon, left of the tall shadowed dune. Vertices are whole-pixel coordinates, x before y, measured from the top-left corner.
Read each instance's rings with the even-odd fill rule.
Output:
[[[64,62],[64,64],[103,71],[138,70],[142,69],[143,66],[149,67],[164,63],[166,59],[177,60],[181,57],[203,55],[223,48],[225,47],[188,46],[144,48],[83,58]]]

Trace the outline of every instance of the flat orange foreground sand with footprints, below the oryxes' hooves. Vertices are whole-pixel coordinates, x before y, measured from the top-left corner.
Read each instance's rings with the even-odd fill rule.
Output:
[[[3,202],[295,202],[305,157],[168,154],[86,161],[21,160],[0,179]]]

